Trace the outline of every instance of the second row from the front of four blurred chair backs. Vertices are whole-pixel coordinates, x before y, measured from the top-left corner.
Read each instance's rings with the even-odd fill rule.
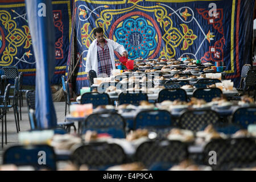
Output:
[[[159,138],[166,137],[173,127],[197,132],[204,130],[212,124],[215,129],[225,134],[234,134],[240,129],[247,129],[250,124],[255,124],[256,107],[242,107],[234,111],[232,124],[220,122],[220,116],[213,110],[187,110],[175,123],[171,114],[166,110],[145,110],[139,112],[133,122],[133,130],[147,129],[158,134]],[[118,113],[90,114],[82,125],[82,133],[93,130],[97,133],[108,133],[113,138],[126,137],[125,119]]]

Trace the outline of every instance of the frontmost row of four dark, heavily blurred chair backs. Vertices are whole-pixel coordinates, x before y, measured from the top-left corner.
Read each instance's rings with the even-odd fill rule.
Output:
[[[44,151],[44,164],[38,163],[39,152]],[[217,164],[210,165],[210,151],[217,154]],[[254,167],[256,164],[256,143],[254,138],[214,139],[203,149],[201,163],[213,170]],[[129,159],[119,144],[90,142],[77,146],[71,161],[77,166],[86,164],[89,169],[105,170],[115,165],[141,162],[150,170],[168,170],[175,164],[190,159],[188,144],[178,140],[149,140],[141,143]],[[35,169],[56,170],[57,157],[48,145],[13,146],[3,154],[3,164],[33,166]]]

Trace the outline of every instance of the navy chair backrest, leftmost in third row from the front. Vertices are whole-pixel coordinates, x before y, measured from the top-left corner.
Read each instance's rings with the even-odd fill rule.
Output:
[[[110,98],[106,93],[98,93],[98,92],[87,92],[82,94],[81,96],[81,104],[93,104],[93,107],[96,108],[100,105],[109,105]]]

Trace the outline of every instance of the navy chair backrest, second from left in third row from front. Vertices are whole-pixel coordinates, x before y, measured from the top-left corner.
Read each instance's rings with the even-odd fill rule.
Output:
[[[148,101],[146,93],[120,93],[118,96],[118,104],[139,105],[141,101]]]

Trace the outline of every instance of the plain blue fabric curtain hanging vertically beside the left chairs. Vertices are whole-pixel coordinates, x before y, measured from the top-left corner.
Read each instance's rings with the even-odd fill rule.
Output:
[[[36,60],[36,119],[40,128],[57,125],[50,81],[55,69],[55,31],[51,0],[26,0]]]

